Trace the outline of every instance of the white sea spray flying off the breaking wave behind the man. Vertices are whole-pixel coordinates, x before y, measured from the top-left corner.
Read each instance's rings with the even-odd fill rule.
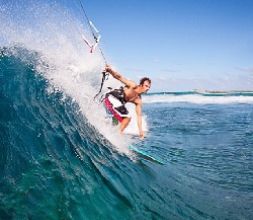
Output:
[[[27,55],[18,54],[20,50],[15,48],[36,52],[36,72],[49,81],[48,92],[56,89],[71,97],[89,123],[119,151],[129,153],[129,139],[119,135],[118,129],[104,120],[102,104],[93,100],[105,64],[98,50],[91,54],[82,42],[80,31],[90,36],[85,22],[56,2],[8,2],[1,5],[1,11],[0,35],[5,39],[1,44],[28,63],[31,61]]]

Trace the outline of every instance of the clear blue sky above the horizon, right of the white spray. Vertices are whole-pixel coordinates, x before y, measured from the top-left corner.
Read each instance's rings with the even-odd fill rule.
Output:
[[[107,59],[154,91],[253,90],[253,1],[86,0]]]

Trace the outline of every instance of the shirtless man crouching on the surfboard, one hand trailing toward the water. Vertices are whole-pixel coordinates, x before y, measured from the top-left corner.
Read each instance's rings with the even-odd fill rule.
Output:
[[[115,79],[122,82],[125,87],[120,89],[114,89],[106,94],[104,104],[105,107],[113,114],[120,124],[120,133],[129,124],[131,117],[125,107],[127,102],[134,103],[136,106],[137,124],[139,128],[139,136],[141,139],[144,138],[144,132],[142,129],[142,100],[141,94],[146,93],[151,86],[151,80],[144,77],[140,80],[140,84],[137,85],[135,82],[126,79],[120,73],[112,69],[109,65],[106,65],[105,71],[110,73]]]

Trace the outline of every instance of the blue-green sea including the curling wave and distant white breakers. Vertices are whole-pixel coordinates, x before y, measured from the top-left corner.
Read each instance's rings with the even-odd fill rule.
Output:
[[[96,126],[100,105],[41,59],[1,49],[0,219],[253,219],[251,92],[146,95],[139,141]]]

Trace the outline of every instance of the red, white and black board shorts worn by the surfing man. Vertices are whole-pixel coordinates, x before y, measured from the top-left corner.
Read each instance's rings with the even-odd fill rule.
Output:
[[[119,122],[122,122],[123,118],[130,118],[126,106],[111,94],[108,94],[104,99],[104,106],[107,112],[112,114]]]

